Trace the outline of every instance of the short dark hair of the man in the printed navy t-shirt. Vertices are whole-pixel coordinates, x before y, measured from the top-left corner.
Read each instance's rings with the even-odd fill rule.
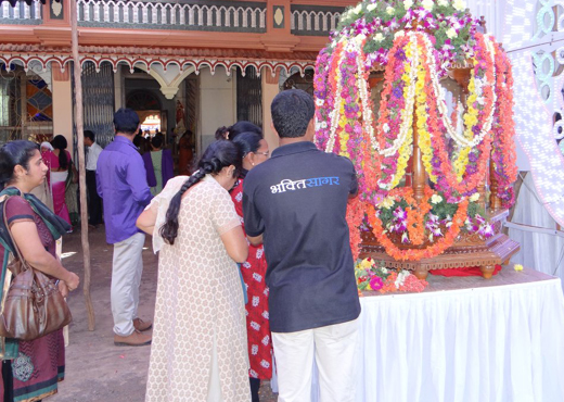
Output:
[[[280,138],[303,137],[316,106],[313,99],[302,89],[287,89],[275,96],[270,105],[272,124]]]

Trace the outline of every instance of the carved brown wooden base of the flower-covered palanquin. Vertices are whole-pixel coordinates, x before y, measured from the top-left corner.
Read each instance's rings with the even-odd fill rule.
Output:
[[[515,254],[520,244],[510,239],[502,233],[503,223],[509,215],[508,210],[489,212],[489,223],[493,227],[495,235],[489,239],[484,239],[478,234],[460,233],[454,243],[443,254],[419,261],[395,260],[388,255],[384,247],[379,244],[372,231],[361,234],[360,257],[372,257],[375,261],[383,261],[387,267],[413,271],[420,279],[427,277],[430,269],[463,268],[479,266],[484,278],[489,279],[493,274],[496,264],[508,264],[509,259]],[[402,249],[424,248],[401,244],[401,240],[393,239],[394,243]]]

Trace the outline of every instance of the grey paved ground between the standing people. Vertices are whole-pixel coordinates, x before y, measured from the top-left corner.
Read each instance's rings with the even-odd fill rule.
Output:
[[[88,330],[85,298],[75,290],[68,303],[74,321],[66,349],[66,379],[60,385],[53,402],[142,402],[144,401],[150,347],[118,348],[114,346],[110,282],[112,247],[105,243],[103,227],[90,233],[92,261],[91,296],[95,313],[95,330]],[[63,264],[84,280],[80,234],[66,236]],[[144,272],[140,290],[140,316],[152,318],[155,303],[157,259],[150,239],[143,250]],[[268,384],[260,390],[261,402],[274,402]]]

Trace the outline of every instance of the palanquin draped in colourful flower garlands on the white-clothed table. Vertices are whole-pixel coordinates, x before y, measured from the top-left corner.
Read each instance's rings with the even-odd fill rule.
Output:
[[[490,277],[518,249],[501,234],[517,173],[511,65],[478,25],[463,0],[367,0],[320,52],[316,143],[356,166],[356,256]]]

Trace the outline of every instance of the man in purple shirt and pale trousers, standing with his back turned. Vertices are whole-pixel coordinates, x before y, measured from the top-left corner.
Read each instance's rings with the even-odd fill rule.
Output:
[[[132,142],[139,131],[139,116],[133,110],[121,108],[114,114],[114,126],[115,139],[100,153],[97,166],[106,240],[114,244],[111,290],[114,343],[141,346],[151,343],[152,336],[141,332],[150,329],[152,322],[137,316],[145,235],[138,230],[136,221],[152,196],[143,160]]]

